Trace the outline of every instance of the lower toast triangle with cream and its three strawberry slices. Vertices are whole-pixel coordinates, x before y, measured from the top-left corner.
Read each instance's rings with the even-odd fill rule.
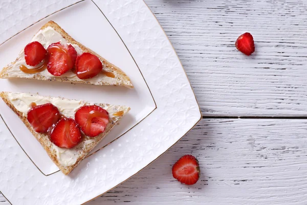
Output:
[[[92,106],[92,103],[82,100],[47,97],[29,93],[1,92],[0,97],[2,97],[5,103],[25,123],[33,136],[35,136],[46,150],[52,161],[64,174],[69,174],[78,166],[82,159],[99,144],[109,131],[118,124],[119,120],[130,110],[130,108],[126,106],[108,104],[95,104],[95,106]],[[23,101],[21,106],[19,103],[20,101]],[[48,104],[39,105],[39,103],[46,101],[50,102],[52,106]],[[34,102],[37,106],[31,102]],[[64,109],[62,105],[65,105]],[[33,108],[31,108],[31,106],[33,106]],[[39,112],[34,115],[32,112],[35,110]],[[45,132],[47,127],[52,124],[53,119],[56,121],[56,118],[53,118],[53,116],[57,116],[57,110],[60,111],[60,116],[62,118],[59,119],[55,125],[52,125],[47,133],[36,132],[36,130],[38,130],[36,127],[40,128],[40,126],[35,126],[38,122],[43,123],[44,129],[42,129],[42,132]],[[80,131],[81,126],[77,125],[73,120],[77,110],[79,114],[75,120],[79,121],[81,126],[82,123],[84,126],[84,122],[85,124],[87,121],[90,122],[89,127],[83,127],[84,132],[87,133],[86,128],[88,128],[88,134],[90,136],[97,135],[98,133],[100,134],[95,137],[82,134]],[[30,115],[28,115],[28,113],[30,113]],[[65,117],[63,117],[63,115]],[[37,119],[35,116],[38,116]],[[28,121],[27,118],[31,119]],[[33,124],[33,122],[30,124],[30,121],[36,124]],[[48,121],[48,123],[45,121]],[[38,131],[40,131],[40,129]],[[80,139],[81,135],[82,137]],[[23,137],[28,138],[30,143],[32,136],[30,136],[29,133],[25,133]],[[61,158],[63,153],[74,157],[70,157],[69,160],[67,160],[67,158]]]

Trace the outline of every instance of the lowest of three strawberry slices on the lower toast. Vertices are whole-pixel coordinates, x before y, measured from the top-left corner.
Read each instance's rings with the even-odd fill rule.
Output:
[[[60,119],[50,135],[50,140],[60,148],[73,148],[81,139],[80,129],[72,118]]]

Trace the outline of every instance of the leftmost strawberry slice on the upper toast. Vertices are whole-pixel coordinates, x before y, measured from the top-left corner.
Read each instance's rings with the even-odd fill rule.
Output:
[[[43,59],[45,59],[47,51],[39,42],[31,42],[25,49],[25,60],[29,66],[38,65]]]

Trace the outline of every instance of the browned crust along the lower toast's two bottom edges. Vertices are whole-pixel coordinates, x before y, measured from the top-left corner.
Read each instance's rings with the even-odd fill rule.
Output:
[[[110,125],[108,127],[106,127],[104,133],[98,135],[97,137],[95,137],[95,141],[92,142],[91,144],[86,145],[85,149],[83,149],[82,154],[79,155],[76,163],[72,166],[68,166],[68,167],[64,167],[62,165],[60,165],[58,159],[57,159],[57,155],[54,151],[54,149],[52,148],[52,145],[50,143],[52,143],[49,139],[49,137],[45,134],[39,134],[37,132],[35,132],[32,128],[32,126],[30,125],[29,121],[27,120],[27,117],[23,116],[23,113],[19,112],[14,105],[11,103],[11,101],[8,98],[8,92],[1,92],[0,93],[0,97],[2,97],[2,99],[4,100],[4,102],[16,113],[16,115],[24,122],[24,124],[26,125],[26,127],[30,130],[30,132],[34,135],[34,137],[39,141],[39,143],[41,144],[41,146],[43,147],[43,149],[46,150],[48,156],[52,159],[52,161],[56,164],[56,166],[65,174],[69,174],[75,167],[77,167],[79,165],[79,163],[87,156],[87,154],[89,154],[95,147],[96,145],[99,144],[99,142],[109,133],[109,131],[111,131],[113,129],[113,127],[115,125],[118,124],[119,120],[121,118],[119,118],[118,121],[116,122],[111,122]],[[100,107],[104,107],[107,104],[97,104]],[[130,110],[130,108],[128,109]],[[83,138],[83,140],[85,140],[85,138]],[[82,141],[83,141],[82,140]]]

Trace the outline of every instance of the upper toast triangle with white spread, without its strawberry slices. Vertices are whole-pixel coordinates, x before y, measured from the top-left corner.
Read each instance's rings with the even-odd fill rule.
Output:
[[[48,81],[63,81],[70,83],[82,83],[82,84],[93,84],[93,85],[111,85],[111,86],[125,86],[127,88],[133,88],[131,80],[129,77],[118,67],[109,63],[106,59],[95,53],[89,48],[86,48],[76,40],[74,40],[68,33],[66,33],[59,25],[55,22],[50,21],[40,28],[40,30],[34,35],[31,42],[37,41],[45,47],[52,43],[60,42],[61,44],[71,44],[77,54],[80,55],[83,52],[89,52],[96,55],[102,65],[103,71],[97,76],[89,79],[79,79],[73,71],[68,71],[61,76],[54,76],[48,72],[48,70],[43,70],[39,73],[28,74],[20,70],[21,65],[25,65],[29,69],[34,67],[28,66],[25,61],[24,49],[20,51],[17,59],[9,64],[7,67],[3,68],[0,72],[0,78],[29,78],[29,79],[39,79]],[[25,45],[26,46],[26,45]]]

